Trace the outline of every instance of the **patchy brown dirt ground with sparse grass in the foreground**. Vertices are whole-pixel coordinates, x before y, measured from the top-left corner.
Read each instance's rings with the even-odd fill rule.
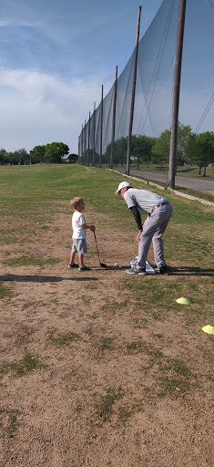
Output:
[[[87,233],[91,271],[68,270],[66,214],[2,246],[1,467],[211,467],[212,337],[174,305],[176,275],[126,275],[133,233],[86,218],[107,269]],[[6,263],[22,255],[46,265]],[[148,302],[151,281],[173,305]]]

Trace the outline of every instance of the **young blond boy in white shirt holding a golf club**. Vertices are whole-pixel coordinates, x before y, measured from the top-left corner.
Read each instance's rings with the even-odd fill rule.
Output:
[[[70,263],[68,267],[78,267],[75,264],[75,255],[79,258],[79,271],[90,271],[90,268],[84,265],[84,254],[87,253],[87,229],[95,232],[95,225],[87,225],[82,211],[85,204],[82,198],[72,198],[71,206],[75,210],[72,216],[73,227],[73,245],[71,250]]]

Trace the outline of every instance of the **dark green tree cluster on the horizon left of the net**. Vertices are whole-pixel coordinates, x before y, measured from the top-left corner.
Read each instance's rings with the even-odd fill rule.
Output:
[[[0,164],[25,165],[37,164],[41,162],[63,163],[65,161],[75,162],[78,156],[69,154],[68,146],[63,142],[52,142],[43,146],[35,146],[33,150],[27,152],[24,148],[7,152],[0,150]]]

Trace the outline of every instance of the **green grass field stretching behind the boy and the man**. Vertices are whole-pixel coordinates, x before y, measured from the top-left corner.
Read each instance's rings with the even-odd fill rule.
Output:
[[[52,217],[57,213],[66,213],[69,219],[72,215],[70,199],[81,195],[86,202],[86,219],[93,222],[93,214],[104,214],[103,227],[107,225],[119,226],[121,230],[136,233],[136,223],[127,209],[124,200],[115,196],[118,182],[128,180],[112,171],[86,168],[76,165],[50,165],[38,164],[36,166],[6,166],[0,171],[1,200],[0,214],[6,221],[5,236],[17,242],[23,242],[23,231],[25,221],[29,219],[45,223],[52,222]],[[146,188],[143,182],[135,181],[136,188]],[[17,190],[18,189],[18,190]],[[157,187],[149,186],[149,190],[163,194]],[[176,275],[174,281],[166,280],[163,286],[162,277],[145,277],[143,284],[138,277],[122,279],[118,288],[129,289],[130,293],[136,294],[138,306],[147,306],[151,303],[156,306],[154,319],[161,317],[162,310],[171,309],[175,305],[176,298],[188,296],[196,303],[212,303],[213,288],[213,265],[211,257],[213,254],[213,211],[212,208],[178,197],[173,192],[167,193],[168,201],[173,206],[173,215],[164,235],[165,253],[171,274]],[[97,202],[98,200],[98,202]],[[62,204],[61,202],[64,202]],[[90,211],[90,215],[87,213]],[[142,220],[146,216],[142,213]],[[21,219],[21,221],[20,221]],[[23,226],[24,224],[24,226]],[[38,229],[37,229],[38,227]],[[30,227],[31,228],[31,227]],[[36,232],[43,232],[36,225]],[[97,233],[99,225],[97,225]],[[25,233],[25,240],[31,240],[31,233]],[[133,240],[133,247],[135,247]],[[58,262],[57,258],[40,259],[33,255],[22,255],[17,258],[5,260],[6,265],[48,265]],[[53,262],[53,263],[52,263]],[[170,265],[172,267],[170,268]],[[6,294],[4,285],[1,287],[1,296]],[[87,288],[93,285],[87,285]],[[197,290],[199,289],[199,292]],[[206,291],[206,293],[205,293]],[[86,295],[86,294],[85,294]],[[90,299],[87,296],[87,303]],[[127,309],[126,300],[105,299],[102,306],[103,312],[116,314],[120,309],[122,313]],[[206,311],[205,311],[206,314]],[[156,317],[156,318],[155,318]],[[145,317],[147,318],[147,317]]]

